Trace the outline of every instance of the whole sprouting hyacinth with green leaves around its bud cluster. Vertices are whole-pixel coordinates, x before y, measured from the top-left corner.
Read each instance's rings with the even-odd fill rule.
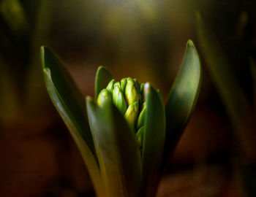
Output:
[[[130,77],[116,82],[103,66],[97,70],[95,98],[85,101],[57,55],[42,47],[41,57],[50,99],[78,145],[97,196],[156,196],[200,90],[200,60],[192,41],[166,107],[149,82]]]

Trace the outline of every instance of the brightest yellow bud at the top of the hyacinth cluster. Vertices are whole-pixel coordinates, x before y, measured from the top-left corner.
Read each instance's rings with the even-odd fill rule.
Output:
[[[140,101],[140,90],[138,90],[138,81],[135,82],[132,78],[127,79],[127,86],[125,88],[125,98],[128,105]]]

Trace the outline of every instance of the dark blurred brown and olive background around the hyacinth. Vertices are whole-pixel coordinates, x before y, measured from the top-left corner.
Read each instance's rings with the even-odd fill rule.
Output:
[[[78,148],[46,92],[41,45],[60,56],[84,96],[94,96],[102,65],[116,80],[151,82],[166,99],[187,39],[202,58],[202,88],[158,196],[256,196],[256,149],[246,142],[255,139],[255,123],[252,132],[243,128],[246,121],[236,129],[226,106],[243,93],[245,119],[255,112],[255,10],[253,0],[1,0],[0,196],[94,196]],[[196,12],[238,84],[230,100],[222,95],[228,86],[208,69]],[[243,142],[240,131],[248,133]]]

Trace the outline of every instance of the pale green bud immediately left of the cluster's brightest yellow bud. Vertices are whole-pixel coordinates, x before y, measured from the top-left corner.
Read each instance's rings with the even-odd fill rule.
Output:
[[[127,103],[124,99],[124,94],[121,91],[120,82],[116,82],[113,88],[113,104],[119,109],[122,115],[127,110]]]

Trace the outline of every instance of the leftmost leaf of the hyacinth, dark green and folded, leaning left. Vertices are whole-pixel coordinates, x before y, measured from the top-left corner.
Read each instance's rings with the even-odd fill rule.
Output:
[[[50,99],[69,128],[83,156],[96,192],[102,190],[99,168],[94,157],[94,144],[86,117],[83,96],[56,55],[41,48],[42,68]]]

